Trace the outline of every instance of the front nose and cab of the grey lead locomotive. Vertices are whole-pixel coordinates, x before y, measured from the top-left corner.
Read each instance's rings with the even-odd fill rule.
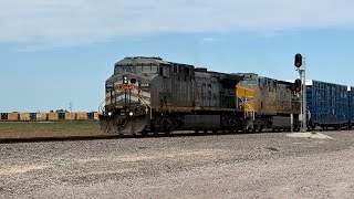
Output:
[[[105,106],[100,117],[105,133],[132,134],[148,128],[155,84],[169,76],[168,63],[158,57],[126,57],[106,80]]]

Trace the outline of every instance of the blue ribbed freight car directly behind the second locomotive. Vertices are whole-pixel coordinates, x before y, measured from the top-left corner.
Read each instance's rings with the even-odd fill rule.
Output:
[[[311,125],[341,127],[351,119],[350,95],[345,85],[306,81],[306,105]]]

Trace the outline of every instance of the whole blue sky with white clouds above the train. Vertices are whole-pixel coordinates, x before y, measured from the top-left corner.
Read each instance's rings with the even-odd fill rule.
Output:
[[[2,0],[0,112],[96,111],[113,64],[134,55],[354,86],[348,0]]]

